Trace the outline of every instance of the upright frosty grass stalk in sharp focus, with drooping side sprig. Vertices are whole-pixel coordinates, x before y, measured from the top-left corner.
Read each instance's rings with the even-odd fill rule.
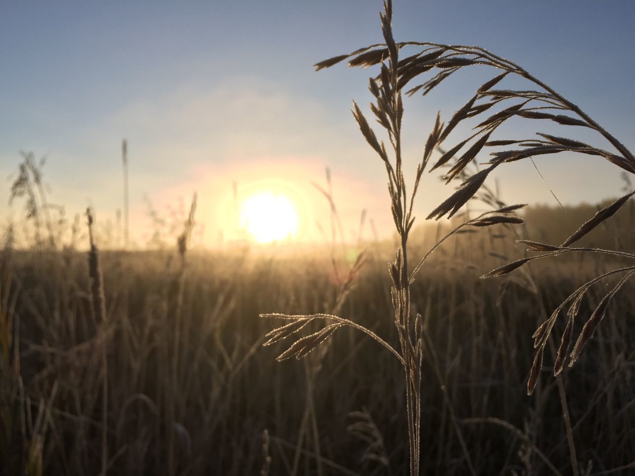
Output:
[[[426,258],[443,243],[447,238],[459,232],[462,228],[472,227],[488,227],[501,223],[523,223],[521,218],[511,216],[511,214],[522,206],[511,206],[496,209],[479,215],[477,218],[467,220],[451,230],[441,241],[435,244],[418,261],[416,265],[410,263],[408,255],[408,237],[410,230],[415,221],[413,216],[413,204],[415,195],[420,184],[421,176],[424,172],[427,161],[431,157],[436,141],[433,140],[441,133],[441,124],[437,120],[435,129],[427,142],[422,161],[417,166],[415,180],[412,191],[406,190],[406,179],[403,172],[403,158],[401,154],[401,121],[403,118],[403,100],[401,96],[401,88],[399,87],[399,52],[397,44],[392,37],[392,4],[391,1],[384,3],[384,11],[380,13],[382,22],[382,32],[386,44],[385,51],[382,51],[379,61],[382,61],[382,68],[377,79],[370,79],[370,92],[374,97],[374,103],[371,103],[371,110],[377,117],[377,122],[385,129],[385,133],[389,138],[389,147],[391,154],[387,152],[386,145],[378,140],[373,129],[370,128],[368,121],[359,109],[358,105],[353,102],[353,116],[359,124],[359,129],[366,138],[366,141],[380,157],[384,163],[387,178],[388,192],[391,197],[391,210],[394,220],[394,226],[399,235],[399,248],[396,250],[395,260],[389,264],[389,272],[392,280],[391,298],[394,316],[394,325],[399,335],[399,351],[393,348],[389,343],[383,340],[370,329],[360,326],[356,322],[349,319],[342,319],[333,314],[312,314],[312,315],[283,315],[283,314],[262,314],[262,317],[287,319],[288,324],[276,327],[267,334],[269,340],[265,345],[271,345],[277,341],[293,336],[301,331],[309,322],[314,320],[322,320],[325,326],[319,331],[304,336],[283,354],[279,355],[277,360],[288,359],[289,357],[304,357],[309,354],[319,344],[323,343],[337,329],[343,326],[350,326],[363,333],[368,334],[373,340],[386,348],[393,354],[404,370],[404,381],[406,383],[406,421],[408,423],[408,441],[410,442],[410,474],[418,475],[420,468],[420,433],[421,433],[421,388],[422,388],[422,359],[424,356],[425,346],[425,329],[424,317],[420,314],[420,310],[413,310],[411,303],[411,284],[415,281],[417,272],[420,270]],[[373,52],[376,56],[377,53]],[[360,63],[372,63],[373,59],[369,59],[364,55]],[[387,63],[384,63],[384,57]],[[340,58],[341,59],[341,58]],[[379,62],[378,61],[378,62]],[[318,63],[317,69],[321,69],[331,65],[333,60]],[[416,262],[416,261],[415,261]],[[475,473],[474,467],[468,458],[469,467],[472,473]]]

